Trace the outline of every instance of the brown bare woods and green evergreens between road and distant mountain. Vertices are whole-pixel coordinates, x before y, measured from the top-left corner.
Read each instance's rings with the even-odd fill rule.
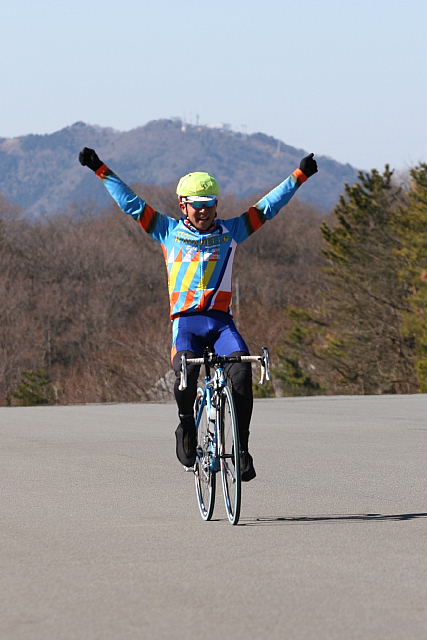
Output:
[[[178,215],[172,188],[137,190]],[[251,201],[225,196],[220,215]],[[426,201],[427,165],[404,187],[372,171],[333,214],[294,199],[241,245],[234,310],[251,349],[271,349],[263,393],[426,391]],[[160,247],[115,205],[30,222],[3,198],[0,403],[158,399],[166,285]]]

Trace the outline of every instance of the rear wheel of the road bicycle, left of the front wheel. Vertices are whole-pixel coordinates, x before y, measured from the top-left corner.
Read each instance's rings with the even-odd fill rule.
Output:
[[[203,520],[210,520],[215,505],[216,475],[211,464],[213,433],[209,430],[206,399],[201,389],[197,392],[194,413],[197,427],[197,457],[194,466],[197,504]]]

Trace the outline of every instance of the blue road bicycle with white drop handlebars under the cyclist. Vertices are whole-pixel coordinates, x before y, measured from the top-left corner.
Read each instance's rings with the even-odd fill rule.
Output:
[[[184,390],[187,387],[188,364],[204,365],[204,384],[197,389],[194,403],[196,462],[187,470],[194,473],[197,503],[203,520],[212,518],[216,474],[221,474],[227,517],[231,524],[236,525],[241,504],[240,444],[236,409],[226,372],[226,365],[234,362],[259,362],[260,384],[270,380],[270,356],[266,347],[261,356],[220,356],[207,348],[202,358],[181,356],[179,388]]]

